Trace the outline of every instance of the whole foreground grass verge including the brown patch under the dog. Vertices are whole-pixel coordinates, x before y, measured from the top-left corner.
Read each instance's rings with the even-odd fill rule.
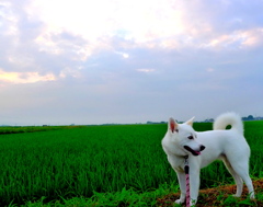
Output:
[[[263,204],[263,179],[253,181],[255,187],[255,199],[250,200],[247,195],[247,187],[241,198],[235,198],[235,185],[224,185],[215,188],[201,189],[201,195],[196,207],[201,206],[261,206]],[[174,193],[175,192],[175,193]],[[176,193],[178,192],[178,193]],[[172,185],[161,185],[158,189],[145,193],[133,189],[123,188],[116,193],[95,193],[91,198],[73,197],[70,199],[62,198],[60,200],[45,202],[45,197],[37,202],[27,202],[23,207],[99,207],[99,206],[174,206],[174,200],[179,196],[179,186],[176,183]],[[8,207],[14,207],[10,204]],[[175,205],[181,206],[181,205]]]

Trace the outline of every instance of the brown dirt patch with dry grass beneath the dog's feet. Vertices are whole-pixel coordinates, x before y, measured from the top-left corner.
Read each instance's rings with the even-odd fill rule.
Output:
[[[239,202],[243,200],[242,202],[243,204],[242,205],[239,204],[239,206],[263,206],[263,179],[253,181],[253,185],[255,189],[255,195],[261,194],[261,198],[252,202],[248,200],[247,199],[248,189],[247,189],[247,186],[244,185],[242,197],[238,199]],[[235,193],[236,193],[236,185],[226,185],[226,186],[219,186],[216,188],[201,189],[196,207],[232,206],[232,203],[235,204],[237,199],[236,198],[231,199],[229,195],[232,195]],[[158,198],[158,206],[159,207],[173,206],[174,200],[178,199],[179,196],[180,194],[176,193],[176,194],[169,194],[162,198]]]

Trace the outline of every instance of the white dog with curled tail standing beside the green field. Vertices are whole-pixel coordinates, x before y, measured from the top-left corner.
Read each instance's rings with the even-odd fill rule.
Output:
[[[240,197],[243,182],[248,186],[250,198],[254,189],[249,176],[250,147],[243,137],[241,118],[235,113],[220,115],[214,123],[214,130],[197,133],[192,128],[193,119],[178,124],[173,118],[168,123],[168,131],[162,139],[162,148],[168,161],[178,174],[181,196],[176,204],[185,202],[184,162],[188,156],[191,205],[197,202],[199,189],[199,170],[213,161],[222,160],[237,184],[235,196]],[[225,130],[228,125],[231,129]]]

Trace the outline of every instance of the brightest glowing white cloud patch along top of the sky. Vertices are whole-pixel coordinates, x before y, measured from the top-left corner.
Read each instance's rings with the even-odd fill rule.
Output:
[[[62,5],[62,7],[61,7]],[[55,47],[50,36],[70,32],[89,43],[105,46],[103,38],[121,37],[139,46],[169,47],[167,39],[188,42],[198,33],[210,30],[209,24],[188,21],[187,3],[170,0],[115,0],[115,1],[45,1],[34,0],[27,7],[31,19],[45,23],[36,42]],[[196,21],[196,20],[195,20]],[[173,45],[172,45],[173,47]],[[55,47],[53,51],[59,53]]]

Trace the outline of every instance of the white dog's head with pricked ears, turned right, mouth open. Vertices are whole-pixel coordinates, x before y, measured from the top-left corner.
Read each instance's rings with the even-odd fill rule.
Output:
[[[197,135],[193,129],[194,117],[190,120],[178,124],[173,118],[169,119],[168,133],[172,139],[172,143],[184,151],[186,154],[199,156],[205,146],[198,142]]]

